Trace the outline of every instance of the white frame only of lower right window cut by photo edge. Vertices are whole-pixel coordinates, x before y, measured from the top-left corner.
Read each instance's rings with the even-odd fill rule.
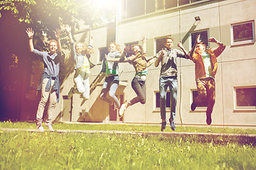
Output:
[[[234,96],[234,111],[255,111],[256,112],[256,106],[237,106],[237,94],[236,89],[250,89],[255,88],[256,86],[234,86],[233,88],[233,96]]]

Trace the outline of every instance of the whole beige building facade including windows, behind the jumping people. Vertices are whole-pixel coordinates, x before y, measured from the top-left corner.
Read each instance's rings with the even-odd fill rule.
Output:
[[[208,38],[215,37],[226,45],[218,57],[212,125],[256,127],[255,0],[119,0],[117,3],[117,22],[75,33],[77,40],[85,34],[94,36],[95,55],[90,58],[96,64],[90,74],[93,88],[88,101],[83,101],[78,94],[68,99],[68,91],[74,85],[74,72],[70,74],[61,87],[56,120],[160,123],[160,66],[154,67],[153,64],[148,69],[146,104],[137,103],[127,108],[122,119],[117,111],[112,111],[112,106],[100,100],[104,79],[101,80],[99,74],[107,46],[114,41],[122,47],[131,45],[139,42],[144,35],[147,38],[146,56],[152,57],[161,50],[167,35],[174,38],[174,48],[179,49],[177,44],[182,41],[186,50],[191,50],[196,36],[201,34],[206,42]],[[208,42],[207,47],[218,45]],[[201,103],[195,111],[190,109],[197,95],[194,63],[185,59],[178,59],[177,62],[176,124],[206,125],[206,103]],[[136,96],[131,86],[135,72],[132,64],[128,63],[119,63],[119,72],[116,95],[123,103]],[[168,118],[169,95],[166,107]]]

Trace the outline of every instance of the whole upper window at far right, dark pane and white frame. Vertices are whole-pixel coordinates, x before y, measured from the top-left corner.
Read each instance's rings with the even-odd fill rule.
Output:
[[[231,25],[232,44],[255,42],[255,22],[236,23]]]

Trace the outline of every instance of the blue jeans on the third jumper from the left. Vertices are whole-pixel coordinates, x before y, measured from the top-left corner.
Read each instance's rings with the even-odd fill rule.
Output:
[[[119,84],[119,76],[105,77],[105,81],[102,86],[102,91],[100,92],[100,98],[103,101],[107,101],[107,103],[112,104],[114,102],[116,106],[119,108],[120,103],[118,101],[117,96],[115,96],[115,91],[117,91],[117,87]],[[110,97],[107,96],[109,93]]]

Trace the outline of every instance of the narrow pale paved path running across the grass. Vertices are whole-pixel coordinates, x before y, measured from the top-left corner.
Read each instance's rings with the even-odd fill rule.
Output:
[[[38,132],[37,129],[18,129],[18,128],[0,128],[1,131],[26,131],[26,132]],[[50,132],[50,130],[45,130]],[[165,137],[245,137],[256,141],[256,135],[245,135],[245,134],[230,134],[230,133],[199,133],[199,132],[145,132],[145,131],[115,131],[115,130],[55,130],[55,132],[77,132],[87,134],[127,134],[127,135],[144,135],[144,136],[158,136],[162,135]]]

